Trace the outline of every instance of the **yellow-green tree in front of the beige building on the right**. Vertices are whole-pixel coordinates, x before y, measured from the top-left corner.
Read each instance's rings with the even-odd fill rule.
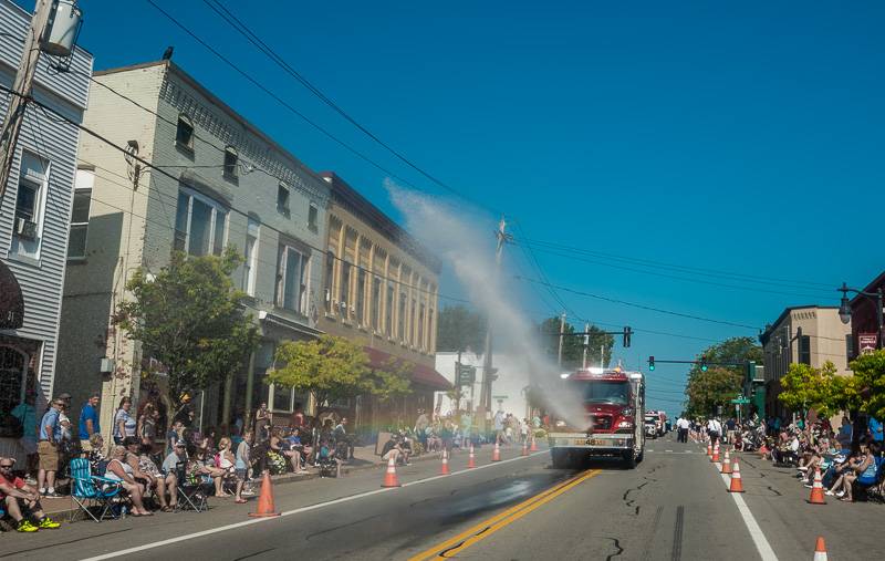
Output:
[[[833,416],[851,407],[851,377],[836,374],[835,365],[826,361],[821,368],[808,364],[790,364],[790,370],[781,377],[781,393],[778,395],[787,407],[794,412],[813,408],[824,416]]]

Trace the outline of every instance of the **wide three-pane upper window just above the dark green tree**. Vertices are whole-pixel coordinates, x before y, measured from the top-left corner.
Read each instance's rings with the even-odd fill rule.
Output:
[[[188,189],[178,191],[174,249],[191,256],[220,256],[228,211],[215,200]]]

